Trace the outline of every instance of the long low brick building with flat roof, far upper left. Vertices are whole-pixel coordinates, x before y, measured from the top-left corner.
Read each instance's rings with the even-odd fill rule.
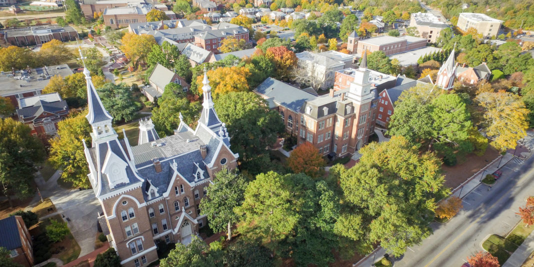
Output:
[[[0,38],[15,46],[30,46],[44,44],[54,39],[61,42],[76,41],[79,36],[73,27],[46,25],[3,29],[0,30]]]

